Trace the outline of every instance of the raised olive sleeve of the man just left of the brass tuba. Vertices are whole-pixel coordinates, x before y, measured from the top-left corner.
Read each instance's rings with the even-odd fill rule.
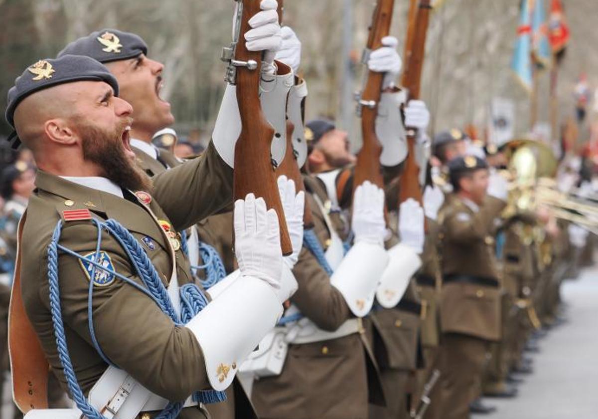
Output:
[[[486,201],[474,214],[464,208],[451,208],[443,223],[447,239],[454,242],[484,239],[495,229],[493,220],[506,205],[506,202],[499,199]]]

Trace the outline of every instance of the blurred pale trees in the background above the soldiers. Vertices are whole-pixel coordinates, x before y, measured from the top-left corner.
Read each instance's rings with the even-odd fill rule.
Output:
[[[495,96],[517,104],[517,132],[529,129],[529,96],[509,69],[518,0],[444,0],[431,17],[422,98],[431,132],[474,124],[483,129]],[[598,65],[598,1],[565,0],[572,32],[559,74],[561,118],[573,114],[573,86],[582,72],[590,84]],[[303,42],[301,73],[308,81],[307,117],[328,116],[356,129],[352,92],[361,84],[361,50],[373,0],[286,0],[285,24]],[[392,34],[405,37],[408,0],[395,1]],[[209,138],[224,89],[221,48],[231,41],[232,0],[0,0],[0,94],[40,57],[53,57],[69,41],[101,28],[136,32],[149,56],[166,65],[164,97],[175,128],[190,139]],[[548,120],[549,74],[541,75],[540,120]],[[0,133],[8,133],[2,119]],[[356,145],[358,135],[354,135]]]

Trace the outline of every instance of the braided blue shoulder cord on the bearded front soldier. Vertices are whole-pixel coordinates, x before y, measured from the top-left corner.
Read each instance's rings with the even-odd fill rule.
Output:
[[[96,254],[95,257],[90,260],[58,243],[60,239],[60,233],[62,232],[62,220],[58,221],[56,227],[54,228],[50,245],[48,245],[48,283],[50,287],[50,311],[54,325],[56,347],[69,387],[69,392],[71,393],[72,398],[75,400],[77,407],[81,410],[81,412],[84,413],[84,415],[90,419],[105,419],[102,414],[100,414],[95,408],[93,408],[93,406],[89,404],[88,400],[84,396],[83,390],[81,390],[81,387],[77,381],[77,377],[71,362],[71,356],[66,345],[65,329],[62,320],[62,309],[60,306],[58,251],[63,251],[66,254],[70,254],[78,259],[84,260],[86,263],[89,263],[92,266],[88,296],[89,331],[94,347],[100,354],[100,357],[102,357],[102,359],[108,363],[108,365],[112,365],[112,363],[101,350],[93,330],[93,311],[91,310],[91,299],[93,296],[93,278],[95,277],[96,269],[102,269],[102,271],[114,275],[115,277],[125,281],[127,284],[132,285],[136,289],[149,296],[152,300],[154,300],[155,303],[157,303],[164,314],[167,314],[177,326],[181,326],[182,324],[191,320],[194,315],[199,313],[208,304],[208,300],[206,300],[206,297],[195,284],[185,284],[180,289],[181,318],[179,318],[174,307],[172,306],[172,302],[168,297],[166,287],[164,287],[164,284],[160,280],[160,277],[158,277],[151,260],[149,260],[149,257],[139,245],[139,242],[136,241],[135,237],[133,237],[133,235],[131,235],[127,229],[125,229],[115,220],[107,220],[102,222],[94,218],[92,222],[96,224],[98,233]],[[144,283],[145,288],[139,286],[139,284],[136,284],[134,281],[130,280],[124,275],[105,268],[97,262],[100,252],[102,229],[106,230],[108,233],[111,233],[126,251],[127,256],[131,260],[132,265],[135,267],[135,270],[137,271],[139,278],[141,278],[142,282]],[[194,393],[194,400],[199,400],[203,403],[218,403],[224,401],[225,399],[226,396],[223,391],[203,390]],[[178,417],[182,408],[182,402],[170,402],[166,408],[164,408],[164,410],[155,417],[155,419],[174,419]]]

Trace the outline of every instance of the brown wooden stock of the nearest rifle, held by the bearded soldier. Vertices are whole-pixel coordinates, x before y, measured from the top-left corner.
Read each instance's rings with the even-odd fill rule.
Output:
[[[266,201],[267,208],[273,208],[278,215],[280,227],[280,247],[282,253],[292,253],[291,238],[286,227],[285,214],[280,202],[276,176],[271,162],[271,140],[274,129],[267,122],[261,110],[260,69],[261,51],[248,51],[242,34],[249,31],[249,19],[260,11],[260,0],[243,0],[243,14],[240,37],[237,42],[235,59],[257,63],[257,68],[237,67],[237,103],[241,117],[241,134],[234,149],[233,195],[234,199],[245,199],[248,193]]]

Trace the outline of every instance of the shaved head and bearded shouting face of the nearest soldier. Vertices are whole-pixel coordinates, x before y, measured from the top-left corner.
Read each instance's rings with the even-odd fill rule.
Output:
[[[75,81],[32,93],[14,113],[23,144],[39,168],[56,175],[100,176],[147,190],[130,148],[133,108],[102,81]]]

